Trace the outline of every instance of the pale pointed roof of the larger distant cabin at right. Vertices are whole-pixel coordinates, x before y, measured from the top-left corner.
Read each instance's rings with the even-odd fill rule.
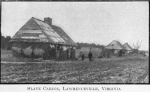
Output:
[[[106,49],[124,49],[122,44],[119,41],[113,40],[110,44],[108,44]]]

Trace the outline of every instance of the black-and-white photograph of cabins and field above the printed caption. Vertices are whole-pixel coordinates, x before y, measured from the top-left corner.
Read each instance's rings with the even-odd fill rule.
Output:
[[[2,2],[1,83],[148,84],[149,3]]]

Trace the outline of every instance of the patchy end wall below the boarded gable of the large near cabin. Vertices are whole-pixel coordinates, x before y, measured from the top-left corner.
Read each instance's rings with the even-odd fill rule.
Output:
[[[12,50],[23,57],[42,57],[47,49],[45,44],[12,43]]]

